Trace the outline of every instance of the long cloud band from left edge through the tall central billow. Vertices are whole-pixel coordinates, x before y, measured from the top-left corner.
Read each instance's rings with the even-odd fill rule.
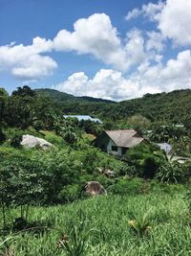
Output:
[[[105,13],[95,13],[78,19],[74,23],[74,32],[62,30],[53,40],[37,36],[31,45],[11,43],[0,46],[0,70],[7,70],[12,76],[25,80],[51,75],[57,64],[44,54],[53,51],[90,54],[121,71],[127,71],[146,58],[144,40],[138,30],[130,31],[126,41],[122,40],[110,17]]]

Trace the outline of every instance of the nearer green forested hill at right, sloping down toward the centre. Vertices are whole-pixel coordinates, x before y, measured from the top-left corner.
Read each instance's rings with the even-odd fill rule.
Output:
[[[142,98],[118,103],[112,109],[119,119],[140,114],[151,121],[184,123],[190,120],[191,90],[146,94]],[[111,113],[112,114],[112,113]]]

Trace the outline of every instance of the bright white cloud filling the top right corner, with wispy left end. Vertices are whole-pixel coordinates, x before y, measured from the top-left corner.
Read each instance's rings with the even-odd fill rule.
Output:
[[[191,45],[191,1],[166,0],[128,12],[126,20],[142,15],[157,24],[160,34],[180,46]]]

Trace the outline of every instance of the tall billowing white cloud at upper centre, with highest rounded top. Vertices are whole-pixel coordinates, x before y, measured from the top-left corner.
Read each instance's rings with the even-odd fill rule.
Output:
[[[126,52],[105,13],[95,13],[74,23],[74,32],[60,31],[53,39],[57,51],[76,51],[78,54],[91,54],[106,64],[126,69]]]

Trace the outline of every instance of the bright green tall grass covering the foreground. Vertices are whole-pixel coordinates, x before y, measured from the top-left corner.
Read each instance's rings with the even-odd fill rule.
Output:
[[[138,236],[128,221],[132,216],[141,221],[148,212],[149,230]],[[16,217],[16,210],[13,215]],[[2,237],[2,253],[6,248],[3,241],[12,236],[6,245],[16,256],[191,255],[191,219],[183,193],[100,196],[67,205],[32,207],[30,221],[40,221],[48,229]]]

